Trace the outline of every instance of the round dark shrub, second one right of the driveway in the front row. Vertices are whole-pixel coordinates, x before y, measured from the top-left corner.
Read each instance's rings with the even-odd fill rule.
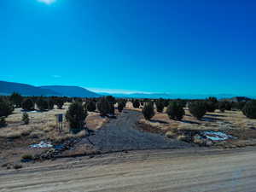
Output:
[[[178,104],[177,102],[170,102],[167,107],[166,113],[168,114],[170,119],[181,120],[183,119],[185,111],[182,105]]]

